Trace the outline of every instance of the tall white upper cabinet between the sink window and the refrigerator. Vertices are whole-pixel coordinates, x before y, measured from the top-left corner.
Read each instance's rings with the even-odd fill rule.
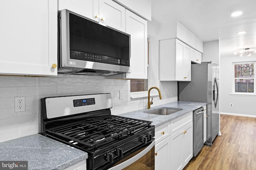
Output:
[[[159,41],[159,80],[191,81],[191,47],[178,39]]]

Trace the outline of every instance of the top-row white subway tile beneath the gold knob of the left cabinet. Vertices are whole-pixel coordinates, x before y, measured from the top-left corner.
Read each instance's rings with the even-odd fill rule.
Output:
[[[72,78],[40,77],[40,86],[65,86],[71,84]]]

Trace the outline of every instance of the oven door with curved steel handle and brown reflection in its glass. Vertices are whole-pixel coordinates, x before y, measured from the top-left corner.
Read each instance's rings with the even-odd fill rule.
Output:
[[[155,141],[114,164],[109,170],[154,170]]]

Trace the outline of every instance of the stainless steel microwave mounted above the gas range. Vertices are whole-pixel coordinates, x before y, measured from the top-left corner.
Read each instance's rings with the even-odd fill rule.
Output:
[[[58,73],[130,72],[130,35],[71,12],[58,12]]]

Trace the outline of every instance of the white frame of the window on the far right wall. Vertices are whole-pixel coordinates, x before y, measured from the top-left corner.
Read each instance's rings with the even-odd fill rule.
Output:
[[[254,67],[256,66],[256,61],[244,61],[244,62],[233,62],[232,63],[232,73],[233,73],[233,77],[232,77],[232,94],[230,94],[231,96],[256,96],[256,86],[255,86],[255,82],[256,82],[256,73],[254,70],[254,77],[248,77],[248,78],[236,78],[235,77],[235,65],[236,64],[254,64]],[[235,80],[236,79],[253,79],[254,80],[254,92],[235,92]]]

